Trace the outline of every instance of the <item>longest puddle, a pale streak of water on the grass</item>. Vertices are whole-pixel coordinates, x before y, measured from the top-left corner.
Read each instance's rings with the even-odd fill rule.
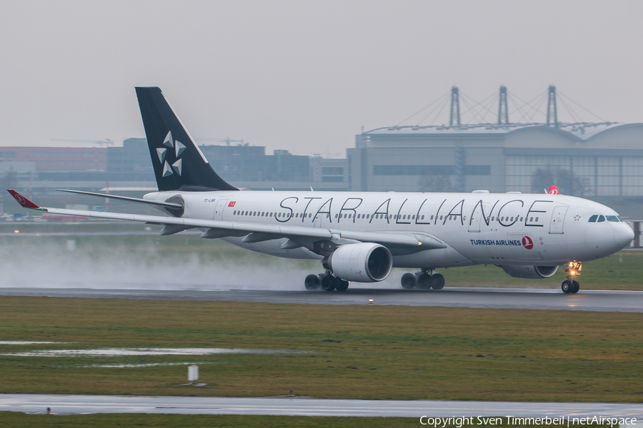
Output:
[[[42,350],[15,352],[11,357],[129,357],[141,355],[291,354],[304,351],[236,348],[108,348],[102,350]]]

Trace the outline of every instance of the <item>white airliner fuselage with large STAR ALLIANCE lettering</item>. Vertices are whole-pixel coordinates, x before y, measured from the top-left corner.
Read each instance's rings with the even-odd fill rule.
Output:
[[[627,223],[589,223],[611,208],[567,195],[517,193],[364,193],[220,191],[158,192],[146,199],[184,198],[184,218],[435,238],[447,248],[394,255],[394,267],[476,264],[562,265],[616,253],[632,240]],[[281,249],[285,238],[230,243],[284,258],[321,259],[306,248]]]

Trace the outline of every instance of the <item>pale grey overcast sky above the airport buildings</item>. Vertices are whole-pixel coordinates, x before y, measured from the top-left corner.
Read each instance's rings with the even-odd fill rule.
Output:
[[[641,1],[2,1],[0,144],[142,137],[134,86],[160,86],[194,138],[268,153],[344,156],[453,85],[528,101],[553,83],[641,122],[642,23]]]

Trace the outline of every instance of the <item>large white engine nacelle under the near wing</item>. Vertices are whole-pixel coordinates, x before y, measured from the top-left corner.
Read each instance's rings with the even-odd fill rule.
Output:
[[[391,273],[393,256],[383,245],[346,244],[340,245],[321,263],[342,280],[378,282],[385,280]]]

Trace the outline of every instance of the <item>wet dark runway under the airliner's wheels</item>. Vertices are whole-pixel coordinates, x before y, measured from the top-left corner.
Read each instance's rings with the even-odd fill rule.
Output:
[[[126,285],[124,285],[126,286]],[[642,291],[444,287],[439,291],[353,288],[346,292],[275,290],[136,290],[91,288],[0,288],[0,295],[151,300],[221,300],[316,305],[407,305],[643,312]],[[373,302],[369,303],[369,299]]]

